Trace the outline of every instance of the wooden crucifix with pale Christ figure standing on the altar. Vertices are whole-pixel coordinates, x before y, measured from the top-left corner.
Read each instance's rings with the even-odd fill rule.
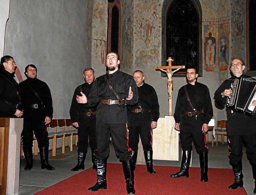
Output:
[[[168,58],[168,66],[156,66],[156,70],[161,70],[167,74],[168,81],[168,100],[169,100],[169,115],[172,116],[172,90],[173,90],[173,82],[172,75],[181,68],[185,68],[185,66],[172,66],[172,61],[174,61],[171,57]],[[172,69],[176,69],[172,71]]]

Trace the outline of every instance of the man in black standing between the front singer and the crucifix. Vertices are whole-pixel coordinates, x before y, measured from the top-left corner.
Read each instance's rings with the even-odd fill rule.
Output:
[[[138,104],[128,106],[128,128],[129,128],[129,147],[132,149],[132,162],[134,165],[138,155],[138,144],[141,139],[147,170],[154,174],[153,168],[153,150],[152,129],[156,128],[159,118],[159,104],[154,88],[144,83],[144,74],[142,71],[134,71],[133,78],[138,87]]]

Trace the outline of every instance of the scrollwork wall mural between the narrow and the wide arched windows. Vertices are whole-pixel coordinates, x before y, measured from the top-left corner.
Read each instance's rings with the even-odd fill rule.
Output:
[[[161,47],[161,2],[137,1],[134,14],[136,64],[159,63]],[[141,65],[140,65],[141,66]]]

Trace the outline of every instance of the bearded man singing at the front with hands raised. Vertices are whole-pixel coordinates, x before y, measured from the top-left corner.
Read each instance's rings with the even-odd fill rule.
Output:
[[[127,138],[127,108],[126,104],[133,105],[138,102],[138,90],[131,75],[118,70],[120,64],[118,54],[108,53],[106,66],[108,73],[98,77],[93,85],[90,95],[77,96],[78,103],[85,106],[97,107],[96,122],[96,158],[97,158],[97,183],[88,191],[107,189],[106,165],[109,155],[110,134],[113,140],[116,155],[119,156],[124,169],[126,190],[128,194],[134,194],[134,172],[132,169],[132,151],[128,147]],[[113,91],[112,91],[112,90]],[[133,90],[133,92],[132,92]]]

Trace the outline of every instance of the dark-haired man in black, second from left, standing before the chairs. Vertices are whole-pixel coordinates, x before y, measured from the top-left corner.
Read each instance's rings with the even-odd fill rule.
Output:
[[[37,69],[33,64],[25,68],[27,79],[21,82],[22,108],[24,109],[24,124],[21,133],[22,148],[26,159],[25,170],[33,168],[33,136],[38,141],[38,148],[41,158],[41,168],[53,170],[48,163],[49,138],[46,124],[52,118],[52,96],[46,83],[36,78]],[[34,131],[34,134],[33,134]]]

